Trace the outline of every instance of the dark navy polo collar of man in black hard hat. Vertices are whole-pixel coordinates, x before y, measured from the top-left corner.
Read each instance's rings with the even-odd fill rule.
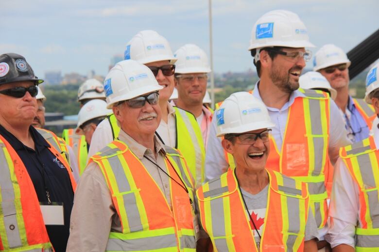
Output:
[[[43,150],[44,148],[49,148],[50,144],[46,142],[46,140],[38,133],[38,131],[33,127],[29,127],[29,133],[31,134],[34,141],[34,148],[38,152]],[[12,147],[17,150],[23,150],[25,148],[29,148],[25,146],[21,141],[19,141],[11,132],[6,130],[3,126],[0,125],[0,134],[8,141]],[[29,148],[30,149],[30,148]]]

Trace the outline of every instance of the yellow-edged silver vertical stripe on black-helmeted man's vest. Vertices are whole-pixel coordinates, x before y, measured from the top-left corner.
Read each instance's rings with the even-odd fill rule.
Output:
[[[3,168],[0,175],[0,213],[3,216],[0,218],[0,236],[1,242],[5,250],[28,246],[26,238],[26,230],[22,217],[21,194],[14,172],[13,160],[5,147],[5,144],[0,140],[0,160]],[[4,163],[7,163],[7,167]],[[11,230],[10,226],[14,229]]]

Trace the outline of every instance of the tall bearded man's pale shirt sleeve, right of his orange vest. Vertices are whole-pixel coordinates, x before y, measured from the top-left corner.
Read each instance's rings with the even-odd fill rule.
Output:
[[[336,103],[330,99],[330,132],[329,132],[329,158],[334,164],[339,157],[341,147],[351,144],[347,138],[344,118]]]

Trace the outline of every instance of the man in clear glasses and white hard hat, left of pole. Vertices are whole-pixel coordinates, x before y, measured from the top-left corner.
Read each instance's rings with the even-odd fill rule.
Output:
[[[213,113],[203,105],[207,92],[207,73],[211,71],[208,57],[200,47],[187,44],[175,52],[175,87],[178,90],[178,108],[191,112],[201,128],[204,146],[207,146]]]

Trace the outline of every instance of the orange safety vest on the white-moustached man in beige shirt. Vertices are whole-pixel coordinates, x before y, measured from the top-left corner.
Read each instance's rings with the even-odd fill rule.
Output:
[[[172,208],[124,142],[115,140],[90,158],[103,172],[121,221],[122,233],[110,231],[106,251],[195,252],[194,181],[180,153],[165,150],[167,173],[189,191],[170,179]]]

